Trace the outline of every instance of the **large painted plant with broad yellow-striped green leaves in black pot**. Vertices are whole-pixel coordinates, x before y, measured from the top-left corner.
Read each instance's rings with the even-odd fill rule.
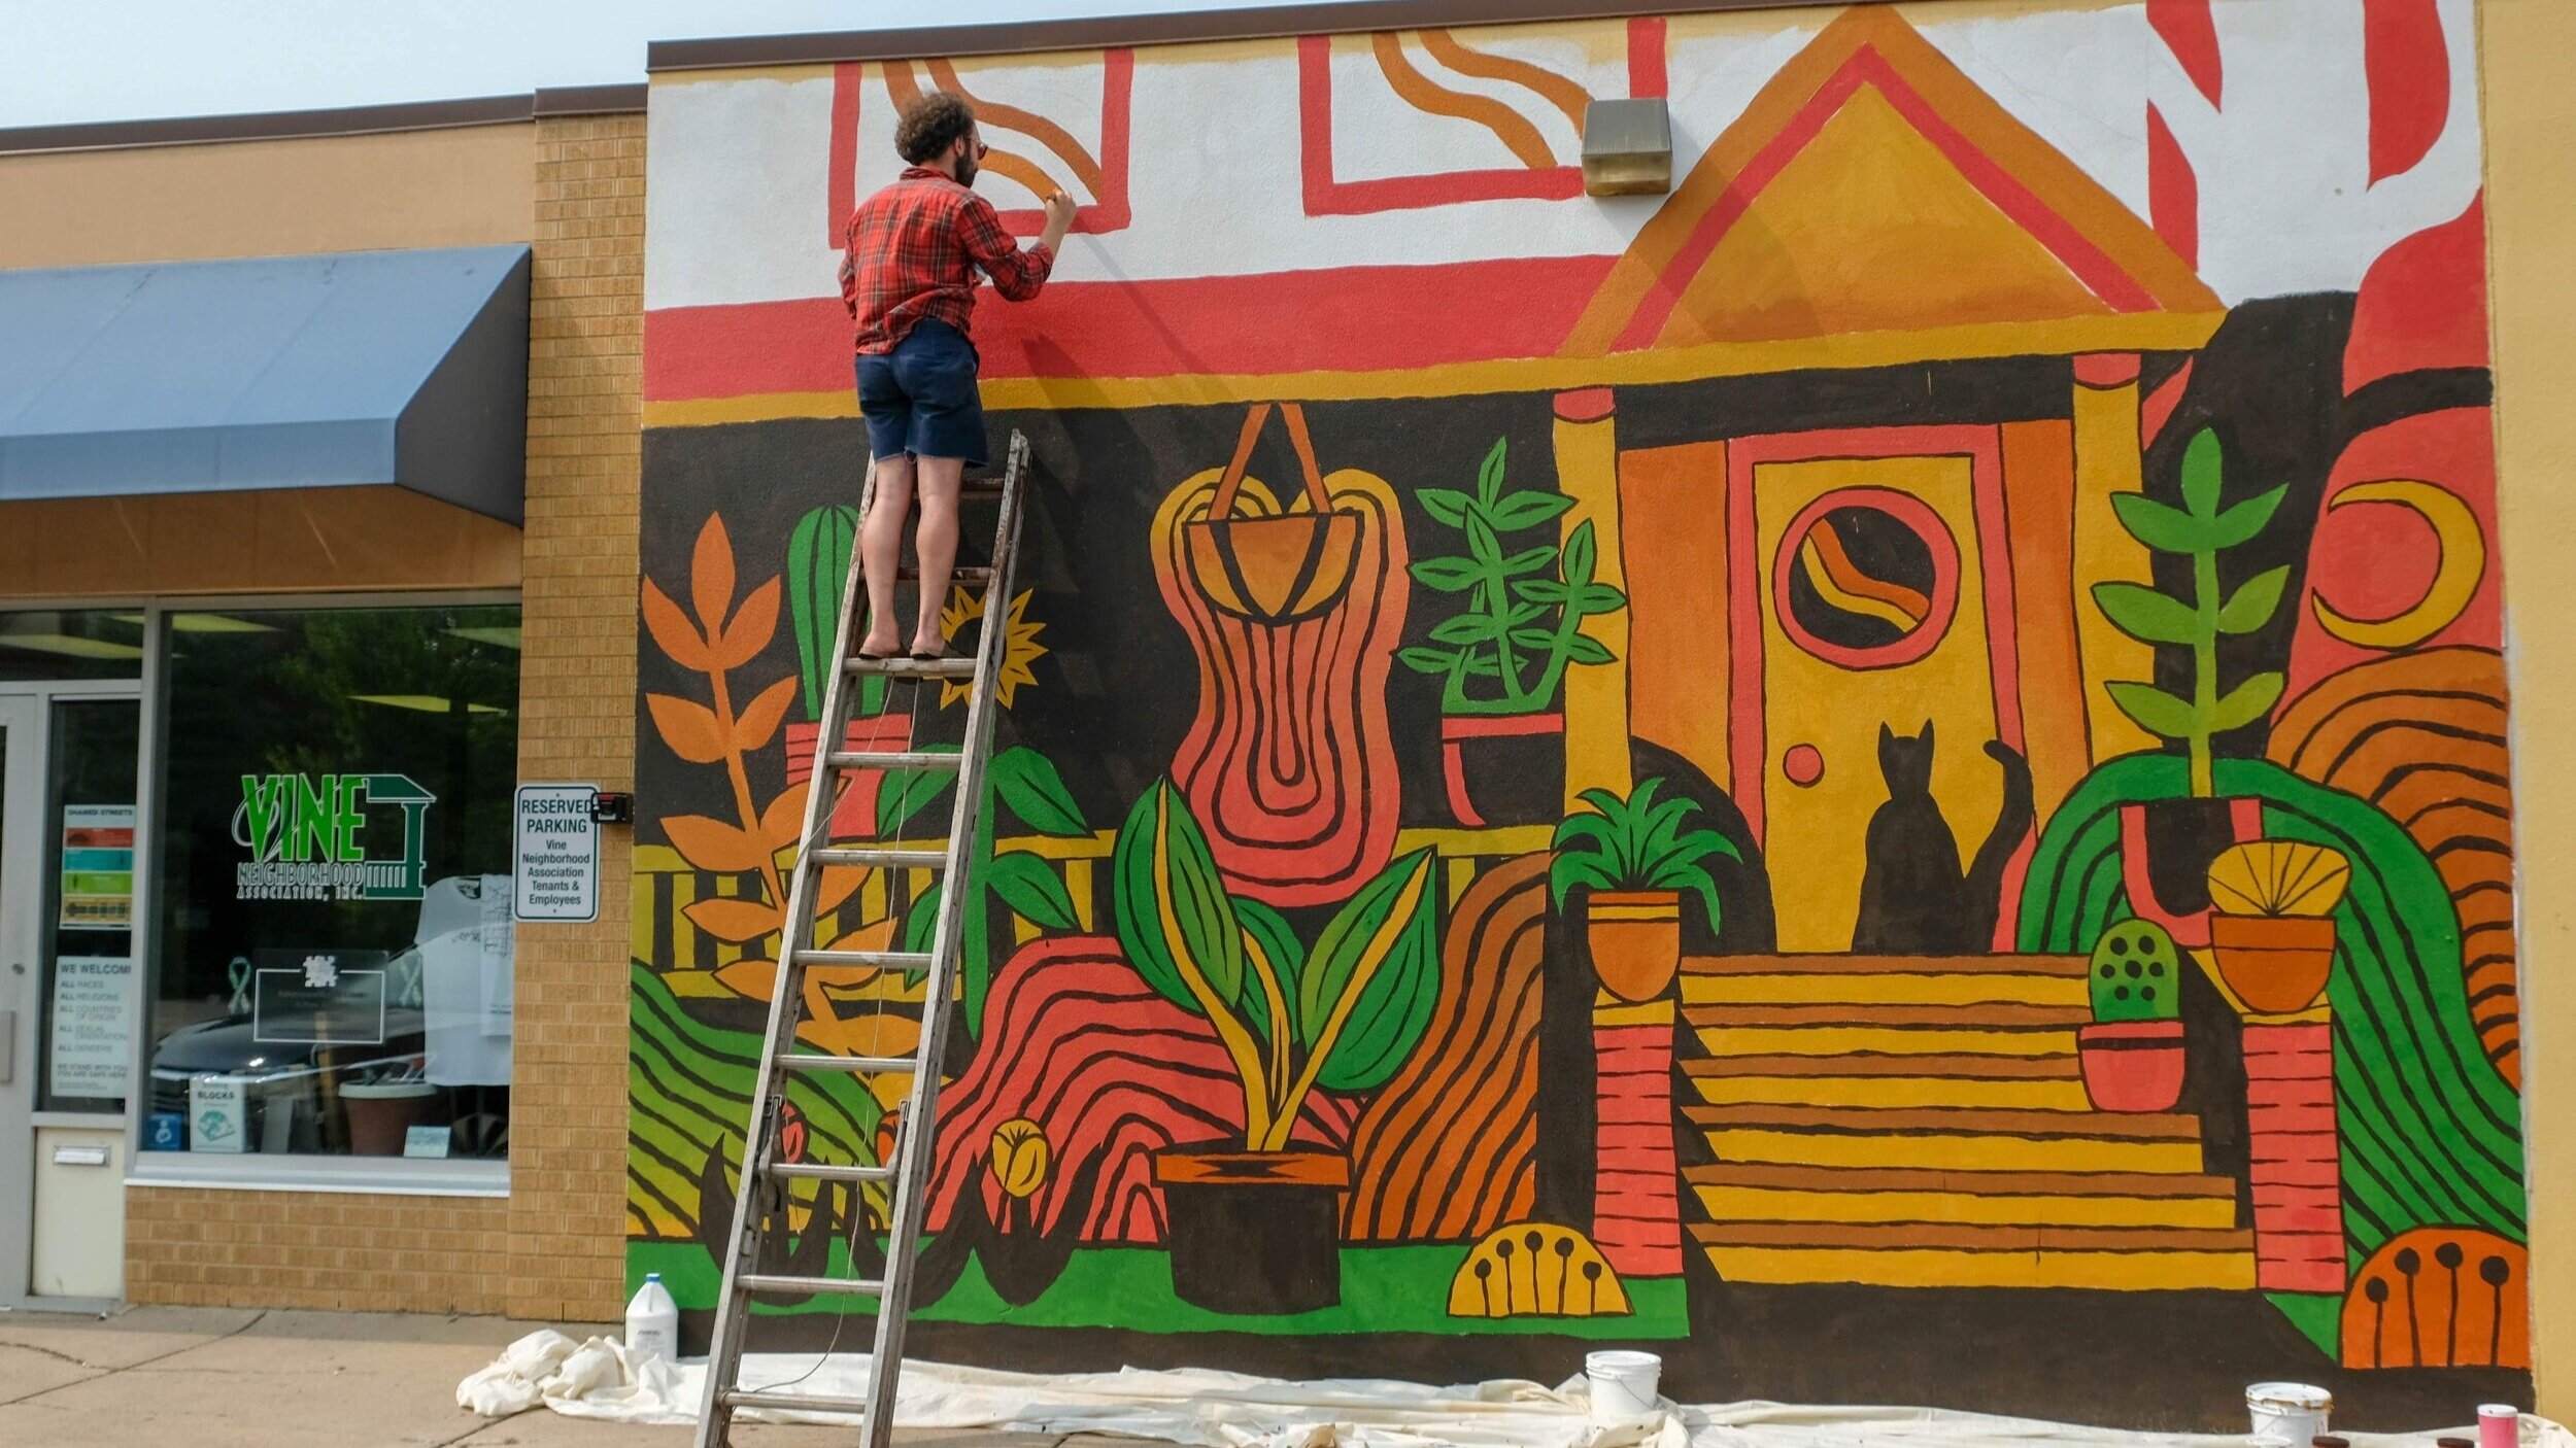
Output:
[[[1113,855],[1118,940],[1172,1005],[1216,1028],[1244,1090],[1244,1136],[1154,1157],[1172,1293],[1211,1311],[1342,1301],[1350,1159],[1291,1144],[1316,1090],[1386,1085],[1440,995],[1432,853],[1391,861],[1309,951],[1267,904],[1226,894],[1172,781],[1128,812]]]

